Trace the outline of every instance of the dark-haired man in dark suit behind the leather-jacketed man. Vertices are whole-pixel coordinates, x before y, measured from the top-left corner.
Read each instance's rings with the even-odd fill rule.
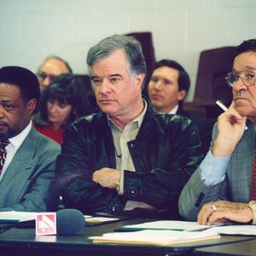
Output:
[[[213,122],[183,110],[183,100],[189,92],[189,86],[189,74],[177,61],[158,61],[148,83],[149,100],[155,110],[161,113],[177,113],[193,120],[201,137],[202,152],[207,154]]]

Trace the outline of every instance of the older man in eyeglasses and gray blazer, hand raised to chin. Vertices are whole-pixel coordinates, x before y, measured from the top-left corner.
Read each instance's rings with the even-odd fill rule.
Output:
[[[236,48],[233,70],[226,78],[233,102],[218,117],[211,150],[180,195],[183,218],[197,218],[199,224],[256,224],[255,77],[256,39],[251,39]]]

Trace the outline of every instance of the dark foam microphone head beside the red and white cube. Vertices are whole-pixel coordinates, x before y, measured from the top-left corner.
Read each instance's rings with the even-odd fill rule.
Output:
[[[76,209],[62,209],[56,212],[56,227],[59,235],[74,235],[84,229],[84,214]]]

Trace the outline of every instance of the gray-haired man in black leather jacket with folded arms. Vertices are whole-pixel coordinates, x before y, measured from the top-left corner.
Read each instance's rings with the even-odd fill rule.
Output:
[[[87,64],[102,111],[64,136],[56,166],[64,205],[86,214],[178,218],[180,192],[201,162],[195,125],[154,113],[143,98],[146,64],[134,38],[103,39]]]

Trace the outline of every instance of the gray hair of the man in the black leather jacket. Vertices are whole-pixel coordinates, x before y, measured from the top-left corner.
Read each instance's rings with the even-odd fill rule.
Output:
[[[146,78],[147,65],[141,44],[137,41],[137,39],[124,35],[113,35],[111,37],[104,38],[99,44],[96,44],[89,49],[87,55],[89,73],[91,72],[92,65],[96,61],[107,58],[116,49],[125,49],[128,60],[128,73],[130,73],[130,76],[144,73]],[[143,80],[143,84],[144,81],[145,79]]]

